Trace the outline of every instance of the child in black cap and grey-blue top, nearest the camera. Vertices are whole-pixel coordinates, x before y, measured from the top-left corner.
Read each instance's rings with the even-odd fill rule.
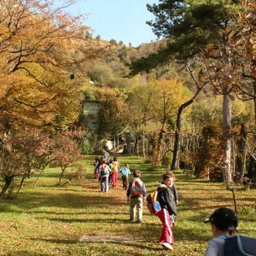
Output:
[[[236,212],[227,207],[218,208],[210,218],[205,220],[210,223],[213,238],[208,241],[206,256],[224,256],[224,242],[229,236],[237,232],[238,218]],[[232,255],[230,255],[232,256]]]

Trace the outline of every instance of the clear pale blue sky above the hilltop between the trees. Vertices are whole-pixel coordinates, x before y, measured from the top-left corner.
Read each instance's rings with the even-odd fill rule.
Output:
[[[61,0],[59,0],[61,1]],[[158,3],[158,0],[82,0],[69,10],[71,14],[88,14],[84,25],[100,35],[103,40],[115,39],[132,46],[156,40],[146,20],[154,20],[146,4]]]

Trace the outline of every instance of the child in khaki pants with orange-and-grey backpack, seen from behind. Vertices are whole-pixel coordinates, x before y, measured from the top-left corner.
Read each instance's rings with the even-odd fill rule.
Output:
[[[143,202],[147,197],[147,191],[143,181],[140,179],[142,173],[139,170],[134,171],[133,180],[129,183],[127,189],[127,202],[130,202],[130,221],[137,216],[137,223],[143,223]]]

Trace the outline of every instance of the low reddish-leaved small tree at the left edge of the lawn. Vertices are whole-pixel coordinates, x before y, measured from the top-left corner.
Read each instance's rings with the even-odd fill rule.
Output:
[[[2,137],[0,175],[4,185],[0,197],[15,183],[15,177],[21,177],[21,189],[26,177],[44,170],[49,164],[51,147],[52,140],[38,129],[26,129]]]

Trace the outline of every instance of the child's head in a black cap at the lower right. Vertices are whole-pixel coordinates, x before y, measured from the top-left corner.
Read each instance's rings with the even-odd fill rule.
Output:
[[[227,207],[220,207],[215,210],[205,223],[212,225],[212,235],[232,236],[237,232],[238,218],[236,212]]]

